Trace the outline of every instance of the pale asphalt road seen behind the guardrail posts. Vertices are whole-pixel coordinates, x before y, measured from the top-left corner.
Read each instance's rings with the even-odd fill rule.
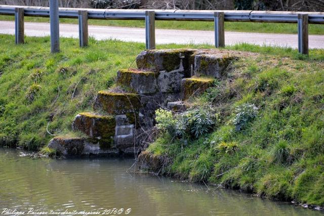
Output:
[[[12,21],[0,21],[0,33],[15,34],[15,23]],[[25,35],[45,36],[49,34],[49,23],[25,22]],[[77,38],[78,26],[73,24],[60,24],[60,35],[63,37]],[[89,25],[89,35],[94,36],[96,39],[113,38],[124,41],[145,42],[144,28]],[[213,31],[156,29],[155,36],[156,44],[214,44]],[[280,47],[298,47],[297,34],[225,32],[226,45],[233,45],[238,42],[257,45],[276,45]],[[324,49],[324,35],[309,35],[309,48]]]

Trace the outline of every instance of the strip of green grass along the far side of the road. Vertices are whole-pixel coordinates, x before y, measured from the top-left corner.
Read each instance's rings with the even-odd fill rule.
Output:
[[[14,20],[13,16],[0,15],[0,20]],[[49,18],[25,17],[26,22],[49,22]],[[77,19],[61,18],[60,23],[77,24]],[[90,25],[145,27],[144,21],[134,20],[89,20]],[[161,21],[157,20],[155,27],[159,29],[184,30],[214,30],[213,22],[199,21]],[[289,23],[254,23],[254,22],[225,22],[225,31],[287,33],[297,34],[297,24]],[[324,34],[324,25],[309,24],[309,34]]]

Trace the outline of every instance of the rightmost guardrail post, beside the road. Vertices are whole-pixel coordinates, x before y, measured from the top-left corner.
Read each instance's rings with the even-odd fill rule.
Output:
[[[308,55],[308,14],[298,14],[298,52]]]

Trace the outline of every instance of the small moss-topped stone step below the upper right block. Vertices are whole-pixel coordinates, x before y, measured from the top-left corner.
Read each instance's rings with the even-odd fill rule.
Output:
[[[191,96],[198,96],[213,86],[214,78],[210,77],[191,77],[181,81],[182,99],[187,100]]]

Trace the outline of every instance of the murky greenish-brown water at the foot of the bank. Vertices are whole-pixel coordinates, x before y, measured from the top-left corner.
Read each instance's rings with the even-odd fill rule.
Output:
[[[127,172],[132,159],[21,157],[0,148],[0,215],[3,208],[100,211],[131,208],[128,215],[323,215],[286,202],[233,190],[207,188]]]

